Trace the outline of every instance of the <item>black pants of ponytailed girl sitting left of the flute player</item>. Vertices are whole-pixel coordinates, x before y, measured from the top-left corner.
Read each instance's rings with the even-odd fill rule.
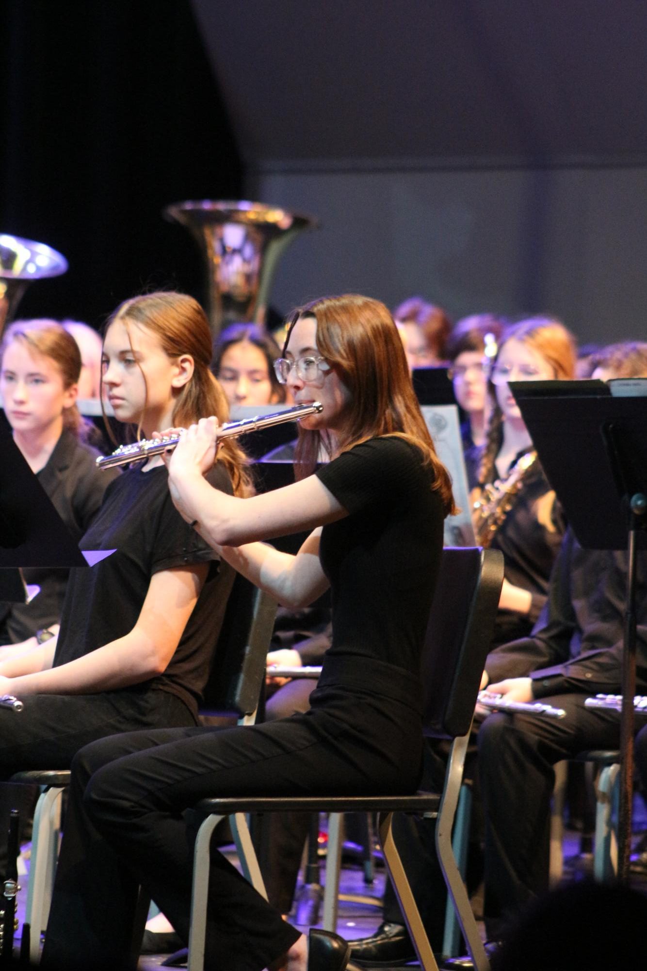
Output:
[[[168,691],[37,694],[22,712],[0,711],[0,780],[27,769],[68,769],[88,742],[162,725],[195,724],[186,705]],[[9,813],[22,822],[33,805],[33,787],[0,784],[0,875],[6,872]]]

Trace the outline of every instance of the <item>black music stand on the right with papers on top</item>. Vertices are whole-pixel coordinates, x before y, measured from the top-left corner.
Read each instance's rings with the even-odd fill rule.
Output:
[[[564,388],[561,385],[567,385]],[[647,550],[647,397],[601,382],[512,382],[546,478],[580,546],[627,550],[620,726],[618,877],[629,878],[635,694],[636,552]]]

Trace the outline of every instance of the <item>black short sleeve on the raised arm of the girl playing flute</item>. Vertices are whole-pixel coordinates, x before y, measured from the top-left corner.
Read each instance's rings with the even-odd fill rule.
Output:
[[[396,436],[372,438],[314,473],[348,513],[373,503],[390,503],[420,484],[422,461],[415,446]]]

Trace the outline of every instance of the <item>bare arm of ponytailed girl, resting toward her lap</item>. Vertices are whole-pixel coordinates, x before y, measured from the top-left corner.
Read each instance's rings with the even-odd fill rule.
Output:
[[[178,647],[208,569],[208,563],[200,563],[155,573],[128,634],[59,667],[2,677],[0,694],[90,694],[161,674]],[[49,648],[49,642],[42,647]]]

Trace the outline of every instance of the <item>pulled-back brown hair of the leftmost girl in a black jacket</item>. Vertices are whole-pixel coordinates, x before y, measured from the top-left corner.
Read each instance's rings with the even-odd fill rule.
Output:
[[[72,385],[79,384],[81,375],[81,352],[79,345],[71,334],[56,320],[47,318],[35,320],[16,320],[4,333],[0,344],[0,364],[5,351],[13,341],[19,341],[29,352],[49,357],[63,379],[63,387],[67,390]],[[78,439],[87,438],[88,423],[81,418],[81,413],[74,404],[63,410],[63,427],[67,428]]]

